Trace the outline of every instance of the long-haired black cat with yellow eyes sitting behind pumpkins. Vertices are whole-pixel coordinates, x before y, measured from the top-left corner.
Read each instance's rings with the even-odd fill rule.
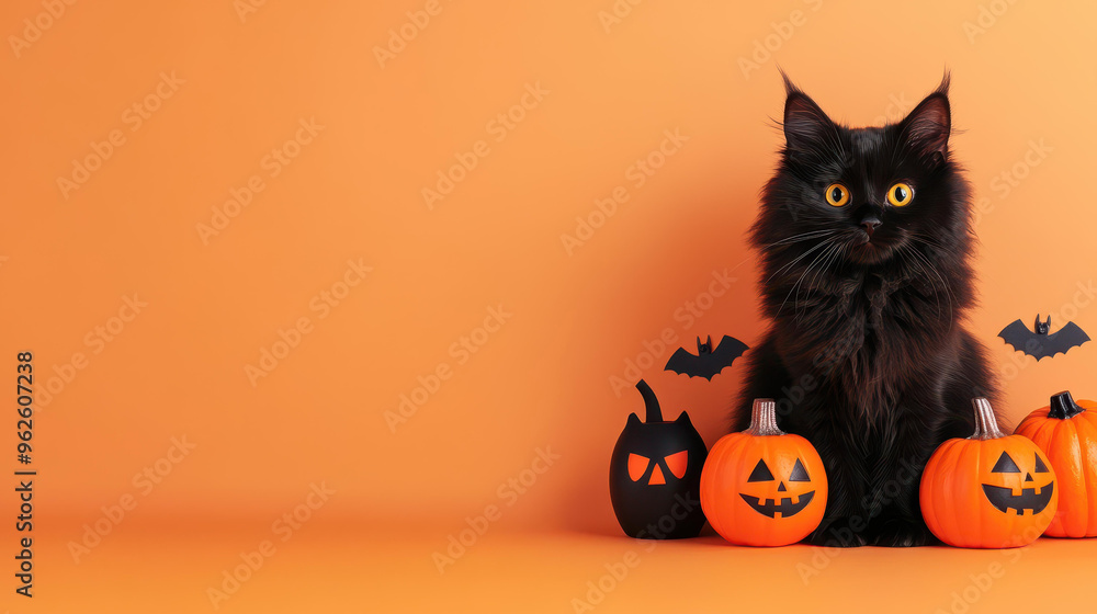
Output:
[[[949,151],[949,77],[904,120],[850,128],[785,78],[785,146],[750,239],[772,320],[749,352],[733,429],[755,398],[826,466],[808,541],[917,546],[926,461],[974,430],[994,397],[985,350],[961,326],[974,303],[970,194]]]

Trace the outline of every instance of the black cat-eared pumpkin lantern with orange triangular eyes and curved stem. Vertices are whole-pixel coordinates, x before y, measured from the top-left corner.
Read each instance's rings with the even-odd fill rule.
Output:
[[[631,537],[697,537],[704,525],[701,468],[709,451],[685,411],[665,422],[659,401],[641,379],[647,422],[632,413],[610,457],[610,500]]]

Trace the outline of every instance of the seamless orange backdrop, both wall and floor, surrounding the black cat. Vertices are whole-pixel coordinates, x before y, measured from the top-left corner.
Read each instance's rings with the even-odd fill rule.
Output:
[[[708,537],[648,553],[621,536],[606,481],[642,406],[629,361],[648,365],[668,416],[688,408],[709,445],[724,432],[740,364],[711,383],[659,367],[694,336],[751,344],[764,329],[745,230],[781,145],[778,65],[855,125],[897,120],[952,70],[952,147],[984,209],[969,326],[1003,375],[999,409],[1016,423],[1060,389],[1097,396],[1097,345],[1034,363],[995,337],[1037,311],[1097,330],[1079,291],[1097,221],[1092,4],[247,1],[0,9],[0,352],[14,379],[15,353],[33,350],[38,375],[37,596],[5,596],[12,612],[213,610],[207,587],[271,538],[278,554],[220,610],[569,612],[630,549],[642,555],[629,578],[643,579],[599,611],[772,604],[774,591],[846,611],[834,604],[911,582],[923,588],[903,605],[948,610],[998,560],[1005,580],[971,612],[1082,599],[1032,588],[1092,577],[1088,542],[1043,539],[1016,562],[862,549],[806,584],[798,566],[819,554],[806,546]],[[426,8],[426,26],[406,25]],[[24,20],[50,23],[34,36]],[[414,38],[378,60],[402,27]],[[323,128],[298,132],[309,121]],[[113,130],[124,141],[102,145]],[[632,167],[665,130],[688,140],[637,185]],[[279,167],[268,156],[283,147]],[[99,164],[97,149],[111,149]],[[428,206],[437,173],[477,149]],[[89,156],[87,181],[58,184]],[[262,189],[228,217],[249,182]],[[569,253],[562,236],[619,186],[627,201]],[[348,261],[371,270],[339,286]],[[708,295],[725,270],[736,281]],[[323,292],[341,295],[327,311]],[[147,306],[129,318],[135,294]],[[682,317],[694,303],[706,307]],[[498,306],[511,316],[477,331]],[[112,320],[120,309],[131,321]],[[303,318],[308,332],[252,385],[246,367]],[[97,327],[115,333],[95,341]],[[454,349],[463,337],[475,353]],[[76,353],[82,367],[66,367]],[[448,377],[391,428],[440,365]],[[194,450],[162,461],[183,436]],[[2,441],[18,468],[12,428]],[[532,474],[539,448],[558,458]],[[170,473],[146,493],[135,475],[158,461]],[[522,492],[508,482],[531,476]],[[272,537],[321,484],[336,493],[292,538]],[[77,562],[70,544],[127,494],[136,505]],[[5,518],[14,505],[9,492]],[[498,519],[439,573],[432,554],[488,505]]]

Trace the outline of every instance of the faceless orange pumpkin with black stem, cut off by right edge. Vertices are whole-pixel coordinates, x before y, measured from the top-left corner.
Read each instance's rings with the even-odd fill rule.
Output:
[[[1051,397],[1017,425],[1032,440],[1059,476],[1059,513],[1048,526],[1052,537],[1097,536],[1097,402],[1075,402],[1067,391]]]

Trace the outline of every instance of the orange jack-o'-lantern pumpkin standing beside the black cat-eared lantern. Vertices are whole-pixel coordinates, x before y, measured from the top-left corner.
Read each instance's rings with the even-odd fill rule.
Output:
[[[823,520],[826,494],[823,461],[807,440],[777,428],[772,399],[756,399],[750,428],[721,437],[701,469],[701,509],[733,544],[803,539]]]

